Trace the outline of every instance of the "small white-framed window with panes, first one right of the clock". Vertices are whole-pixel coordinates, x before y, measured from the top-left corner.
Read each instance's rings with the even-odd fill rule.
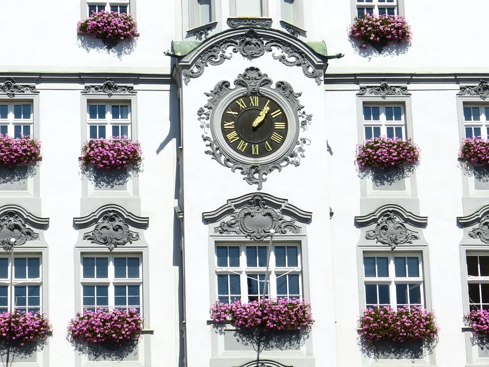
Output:
[[[405,116],[403,106],[396,105],[363,105],[363,126],[365,140],[385,135],[388,138],[404,140]]]

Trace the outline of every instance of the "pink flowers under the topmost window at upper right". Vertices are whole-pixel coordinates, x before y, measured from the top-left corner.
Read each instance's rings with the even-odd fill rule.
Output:
[[[389,42],[409,42],[411,28],[408,22],[398,15],[365,14],[363,18],[355,18],[348,29],[348,35],[363,42],[362,48],[367,44],[385,46]]]

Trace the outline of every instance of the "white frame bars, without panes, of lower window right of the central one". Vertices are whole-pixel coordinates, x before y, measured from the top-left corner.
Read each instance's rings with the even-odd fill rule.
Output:
[[[424,296],[424,281],[423,281],[423,258],[421,253],[409,253],[409,252],[396,252],[396,253],[382,253],[382,252],[364,252],[362,256],[362,263],[364,264],[364,258],[365,257],[387,257],[388,258],[388,272],[389,276],[388,277],[366,277],[365,276],[365,266],[362,267],[363,269],[363,286],[365,288],[365,285],[367,284],[384,284],[384,285],[389,285],[389,301],[390,304],[378,304],[377,306],[382,307],[384,305],[388,305],[391,308],[397,309],[397,293],[396,293],[396,285],[397,284],[420,284],[420,295],[421,295],[421,304],[419,303],[411,303],[409,300],[409,292],[408,292],[408,305],[420,305],[421,307],[424,307],[425,305],[425,296]],[[396,277],[395,276],[395,266],[394,266],[394,258],[395,257],[417,257],[418,258],[418,277],[408,277],[407,273],[407,268],[406,268],[406,277]],[[375,262],[377,264],[377,261]],[[406,265],[407,267],[407,265]],[[375,268],[377,266],[375,265]],[[366,300],[366,290],[364,289],[364,304],[367,307],[367,300]],[[378,289],[377,289],[377,302],[378,302]],[[402,307],[403,304],[400,305]]]

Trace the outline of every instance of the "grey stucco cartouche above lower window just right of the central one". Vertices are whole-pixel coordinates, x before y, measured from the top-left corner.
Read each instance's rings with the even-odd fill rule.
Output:
[[[409,231],[393,211],[388,211],[379,218],[375,228],[366,232],[365,238],[389,245],[392,249],[397,245],[419,240],[419,236]]]

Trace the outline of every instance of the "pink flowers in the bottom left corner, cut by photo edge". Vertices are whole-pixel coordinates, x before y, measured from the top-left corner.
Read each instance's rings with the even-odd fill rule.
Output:
[[[34,339],[43,339],[52,332],[51,324],[45,313],[14,312],[0,313],[0,340],[16,342],[21,346],[24,342]]]

